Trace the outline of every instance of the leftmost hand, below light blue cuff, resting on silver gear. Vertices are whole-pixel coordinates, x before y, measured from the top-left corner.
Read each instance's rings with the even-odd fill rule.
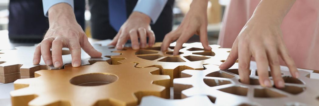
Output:
[[[53,64],[54,67],[61,67],[63,47],[70,49],[73,67],[81,65],[81,47],[91,57],[101,57],[102,54],[88,42],[69,4],[56,4],[49,9],[48,13],[49,29],[34,51],[33,64],[39,64],[42,55],[46,65]]]

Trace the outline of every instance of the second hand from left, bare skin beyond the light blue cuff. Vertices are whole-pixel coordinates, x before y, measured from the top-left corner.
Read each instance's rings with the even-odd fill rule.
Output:
[[[126,22],[121,26],[119,32],[109,45],[116,46],[116,49],[123,49],[128,39],[131,39],[132,48],[139,49],[155,43],[155,35],[150,26],[151,18],[140,12],[133,12]],[[139,44],[138,38],[141,41]]]

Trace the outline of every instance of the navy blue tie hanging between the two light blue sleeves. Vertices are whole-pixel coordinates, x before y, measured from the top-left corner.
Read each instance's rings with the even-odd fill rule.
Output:
[[[108,16],[110,25],[118,32],[127,18],[125,0],[108,0]]]

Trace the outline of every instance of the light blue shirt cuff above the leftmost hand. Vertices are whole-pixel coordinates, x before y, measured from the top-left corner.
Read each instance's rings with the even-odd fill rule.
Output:
[[[74,9],[73,0],[42,0],[44,16],[48,17],[49,9],[59,3],[67,3]]]

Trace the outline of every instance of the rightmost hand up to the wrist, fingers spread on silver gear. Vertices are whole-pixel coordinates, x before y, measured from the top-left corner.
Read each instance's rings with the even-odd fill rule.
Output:
[[[278,55],[286,62],[293,77],[298,78],[298,70],[282,40],[280,24],[250,20],[234,41],[227,60],[219,68],[228,69],[239,59],[240,81],[249,84],[250,58],[254,57],[258,68],[259,83],[262,86],[271,87],[268,75],[269,66],[275,86],[284,88],[285,82],[281,77]]]

